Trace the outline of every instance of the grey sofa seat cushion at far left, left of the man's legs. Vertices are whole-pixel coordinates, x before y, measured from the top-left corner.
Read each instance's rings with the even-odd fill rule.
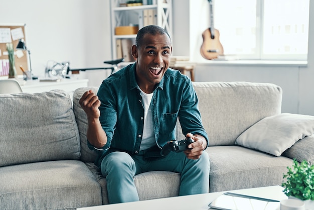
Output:
[[[0,167],[0,209],[76,209],[101,205],[101,188],[78,160]]]

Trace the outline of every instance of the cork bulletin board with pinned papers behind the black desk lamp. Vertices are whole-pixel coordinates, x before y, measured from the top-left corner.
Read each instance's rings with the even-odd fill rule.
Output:
[[[0,76],[9,75],[7,43],[13,43],[17,74],[23,74],[20,69],[21,65],[24,70],[29,70],[28,51],[16,49],[20,39],[24,39],[25,45],[27,46],[27,40],[25,39],[25,24],[0,24]]]

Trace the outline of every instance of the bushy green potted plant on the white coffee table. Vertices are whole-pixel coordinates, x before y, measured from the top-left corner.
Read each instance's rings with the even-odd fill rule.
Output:
[[[281,184],[285,195],[303,200],[305,209],[314,209],[314,165],[293,159],[292,167],[287,169],[288,172],[283,174],[286,180]]]

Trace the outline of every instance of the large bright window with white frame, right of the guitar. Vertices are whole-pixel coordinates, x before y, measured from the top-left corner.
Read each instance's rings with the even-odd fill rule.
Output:
[[[309,0],[217,0],[213,17],[225,55],[307,59]]]

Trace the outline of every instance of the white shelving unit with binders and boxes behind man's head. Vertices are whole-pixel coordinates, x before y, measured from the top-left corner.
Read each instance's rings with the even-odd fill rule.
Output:
[[[152,0],[151,5],[120,7],[120,4],[126,3],[126,0],[110,0],[111,8],[111,49],[112,59],[117,57],[117,40],[129,39],[132,44],[135,42],[136,34],[115,35],[115,27],[118,26],[136,26],[141,29],[146,25],[158,25],[167,30],[172,36],[172,0]],[[149,1],[143,1],[145,2]],[[146,11],[153,11],[153,22],[145,22],[144,15]],[[130,48],[130,47],[129,47]],[[131,49],[129,49],[130,53]]]

